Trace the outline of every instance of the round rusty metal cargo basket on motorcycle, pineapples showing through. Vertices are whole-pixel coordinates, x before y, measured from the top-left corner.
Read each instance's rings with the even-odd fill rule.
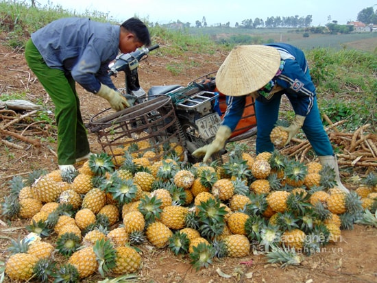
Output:
[[[165,156],[184,160],[184,138],[170,97],[153,99],[113,112],[111,108],[90,119],[88,130],[97,135],[102,149],[113,156],[114,164],[121,166],[127,151],[142,157],[147,151],[156,155],[151,162]]]

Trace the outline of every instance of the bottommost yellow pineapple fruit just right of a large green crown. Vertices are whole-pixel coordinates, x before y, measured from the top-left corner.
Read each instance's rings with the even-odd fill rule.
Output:
[[[115,267],[111,270],[115,274],[135,273],[141,267],[141,256],[132,247],[116,247]]]

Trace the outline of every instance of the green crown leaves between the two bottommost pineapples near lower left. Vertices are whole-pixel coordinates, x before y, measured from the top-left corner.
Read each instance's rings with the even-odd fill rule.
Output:
[[[117,252],[111,241],[103,238],[95,242],[93,251],[95,252],[98,262],[98,272],[104,278],[105,275],[116,266],[115,259]]]

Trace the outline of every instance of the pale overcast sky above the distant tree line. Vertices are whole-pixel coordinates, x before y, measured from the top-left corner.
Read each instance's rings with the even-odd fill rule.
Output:
[[[40,7],[56,6],[71,12],[109,13],[114,20],[123,22],[131,16],[148,19],[153,23],[170,23],[180,20],[182,23],[202,21],[206,17],[207,25],[230,22],[230,26],[243,20],[258,17],[265,21],[271,16],[312,15],[312,25],[326,25],[338,21],[344,25],[356,21],[357,14],[364,8],[377,8],[377,0],[36,0]]]

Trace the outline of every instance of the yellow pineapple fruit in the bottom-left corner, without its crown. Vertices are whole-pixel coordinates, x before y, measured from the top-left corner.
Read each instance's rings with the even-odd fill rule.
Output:
[[[5,274],[12,280],[29,280],[38,258],[33,254],[12,254],[6,262]]]

